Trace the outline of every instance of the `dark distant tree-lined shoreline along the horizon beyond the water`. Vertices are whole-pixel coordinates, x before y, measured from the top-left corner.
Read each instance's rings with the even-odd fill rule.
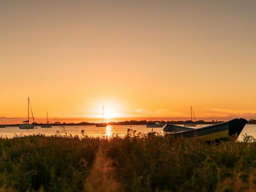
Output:
[[[160,124],[166,124],[166,121],[154,121],[154,122],[160,122]],[[176,125],[182,125],[184,123],[187,122],[191,122],[191,121],[167,121],[169,124],[176,124]],[[204,121],[204,120],[199,120],[196,121],[194,123],[198,124],[198,125],[205,125],[205,124],[218,124],[218,123],[222,123],[224,121]],[[108,122],[106,123],[107,125],[147,125],[152,123],[152,121],[146,121],[146,120],[142,120],[142,121],[137,121],[137,120],[130,120],[130,121],[122,121],[122,122]],[[44,125],[43,123],[33,123],[35,126],[42,126]],[[89,122],[80,122],[80,123],[50,123],[48,125],[51,126],[85,126],[85,125],[96,125],[97,123],[89,123]],[[256,120],[249,120],[249,122],[247,124],[256,124]],[[1,124],[2,126],[19,126],[20,124]]]

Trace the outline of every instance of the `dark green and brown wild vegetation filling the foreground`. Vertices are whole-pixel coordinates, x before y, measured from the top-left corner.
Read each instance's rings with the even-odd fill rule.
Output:
[[[254,191],[256,142],[155,132],[0,138],[0,191]]]

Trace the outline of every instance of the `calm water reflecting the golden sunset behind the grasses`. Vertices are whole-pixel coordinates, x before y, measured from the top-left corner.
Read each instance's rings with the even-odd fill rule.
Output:
[[[208,125],[197,125],[196,128],[204,127]],[[119,136],[125,136],[127,129],[136,130],[141,133],[148,133],[152,128],[147,128],[146,125],[108,125],[107,127],[96,127],[96,126],[65,126],[65,130],[68,135],[78,135],[81,136],[81,130],[85,130],[85,134],[92,137],[103,137],[112,136],[113,134],[118,134]],[[162,133],[163,128],[153,128],[155,132]],[[36,126],[34,129],[20,129],[16,127],[6,127],[0,128],[0,136],[12,138],[17,135],[32,135],[32,134],[45,134],[47,136],[56,134],[56,131],[61,131],[60,126],[52,126],[52,128],[41,128]],[[238,140],[243,140],[243,135],[250,135],[256,138],[256,125],[245,125]]]

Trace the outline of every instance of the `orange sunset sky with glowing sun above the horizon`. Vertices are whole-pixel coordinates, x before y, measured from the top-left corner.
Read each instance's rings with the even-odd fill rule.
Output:
[[[254,0],[1,0],[0,124],[256,119]]]

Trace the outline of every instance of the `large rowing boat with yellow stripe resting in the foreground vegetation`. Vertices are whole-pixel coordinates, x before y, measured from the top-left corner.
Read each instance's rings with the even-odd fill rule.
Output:
[[[198,129],[166,124],[164,126],[164,133],[171,134],[174,137],[183,136],[189,138],[197,136],[204,141],[218,140],[234,134],[238,136],[247,122],[247,120],[239,118]]]

